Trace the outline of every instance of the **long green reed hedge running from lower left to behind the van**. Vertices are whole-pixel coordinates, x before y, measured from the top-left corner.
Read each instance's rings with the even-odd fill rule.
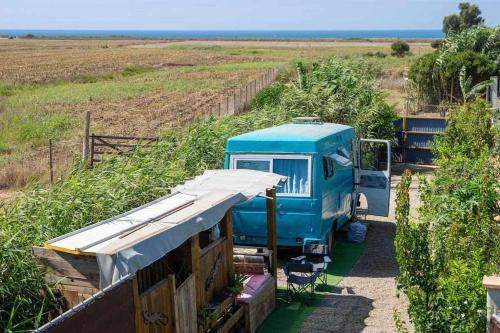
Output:
[[[38,185],[0,207],[0,330],[30,330],[58,311],[32,258],[33,245],[147,203],[205,169],[222,168],[231,136],[304,115],[351,124],[363,135],[392,135],[394,112],[368,67],[330,60],[304,75],[307,89],[298,81],[276,84],[259,93],[251,112],[169,131],[159,144],[92,170],[77,165],[53,186]]]

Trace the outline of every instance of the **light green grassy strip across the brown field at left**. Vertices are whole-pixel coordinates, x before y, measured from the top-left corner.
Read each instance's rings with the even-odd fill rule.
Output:
[[[183,69],[129,69],[110,80],[88,76],[82,82],[58,82],[43,86],[24,86],[9,91],[5,98],[7,109],[36,109],[48,104],[78,104],[88,101],[119,101],[159,91],[190,92],[221,89],[226,81],[207,76],[202,79],[183,77],[183,73],[226,73],[253,69],[272,68],[274,63],[241,63],[217,66],[193,66]],[[142,72],[141,72],[142,71]],[[6,88],[5,88],[6,89]]]

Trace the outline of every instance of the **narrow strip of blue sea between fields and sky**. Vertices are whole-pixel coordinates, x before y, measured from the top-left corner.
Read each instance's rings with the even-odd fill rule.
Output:
[[[166,38],[166,39],[366,39],[442,38],[441,30],[16,30],[0,36]]]

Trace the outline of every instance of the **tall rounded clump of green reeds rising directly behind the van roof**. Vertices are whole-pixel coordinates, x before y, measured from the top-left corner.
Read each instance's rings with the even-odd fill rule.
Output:
[[[317,116],[327,122],[349,124],[366,138],[393,138],[396,114],[378,89],[373,65],[332,58],[310,70],[298,66],[295,82],[282,93],[279,108],[293,116]]]

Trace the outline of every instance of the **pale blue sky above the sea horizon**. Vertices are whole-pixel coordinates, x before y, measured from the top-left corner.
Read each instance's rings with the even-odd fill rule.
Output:
[[[440,29],[447,0],[0,0],[0,29]],[[500,0],[475,1],[488,25]]]

